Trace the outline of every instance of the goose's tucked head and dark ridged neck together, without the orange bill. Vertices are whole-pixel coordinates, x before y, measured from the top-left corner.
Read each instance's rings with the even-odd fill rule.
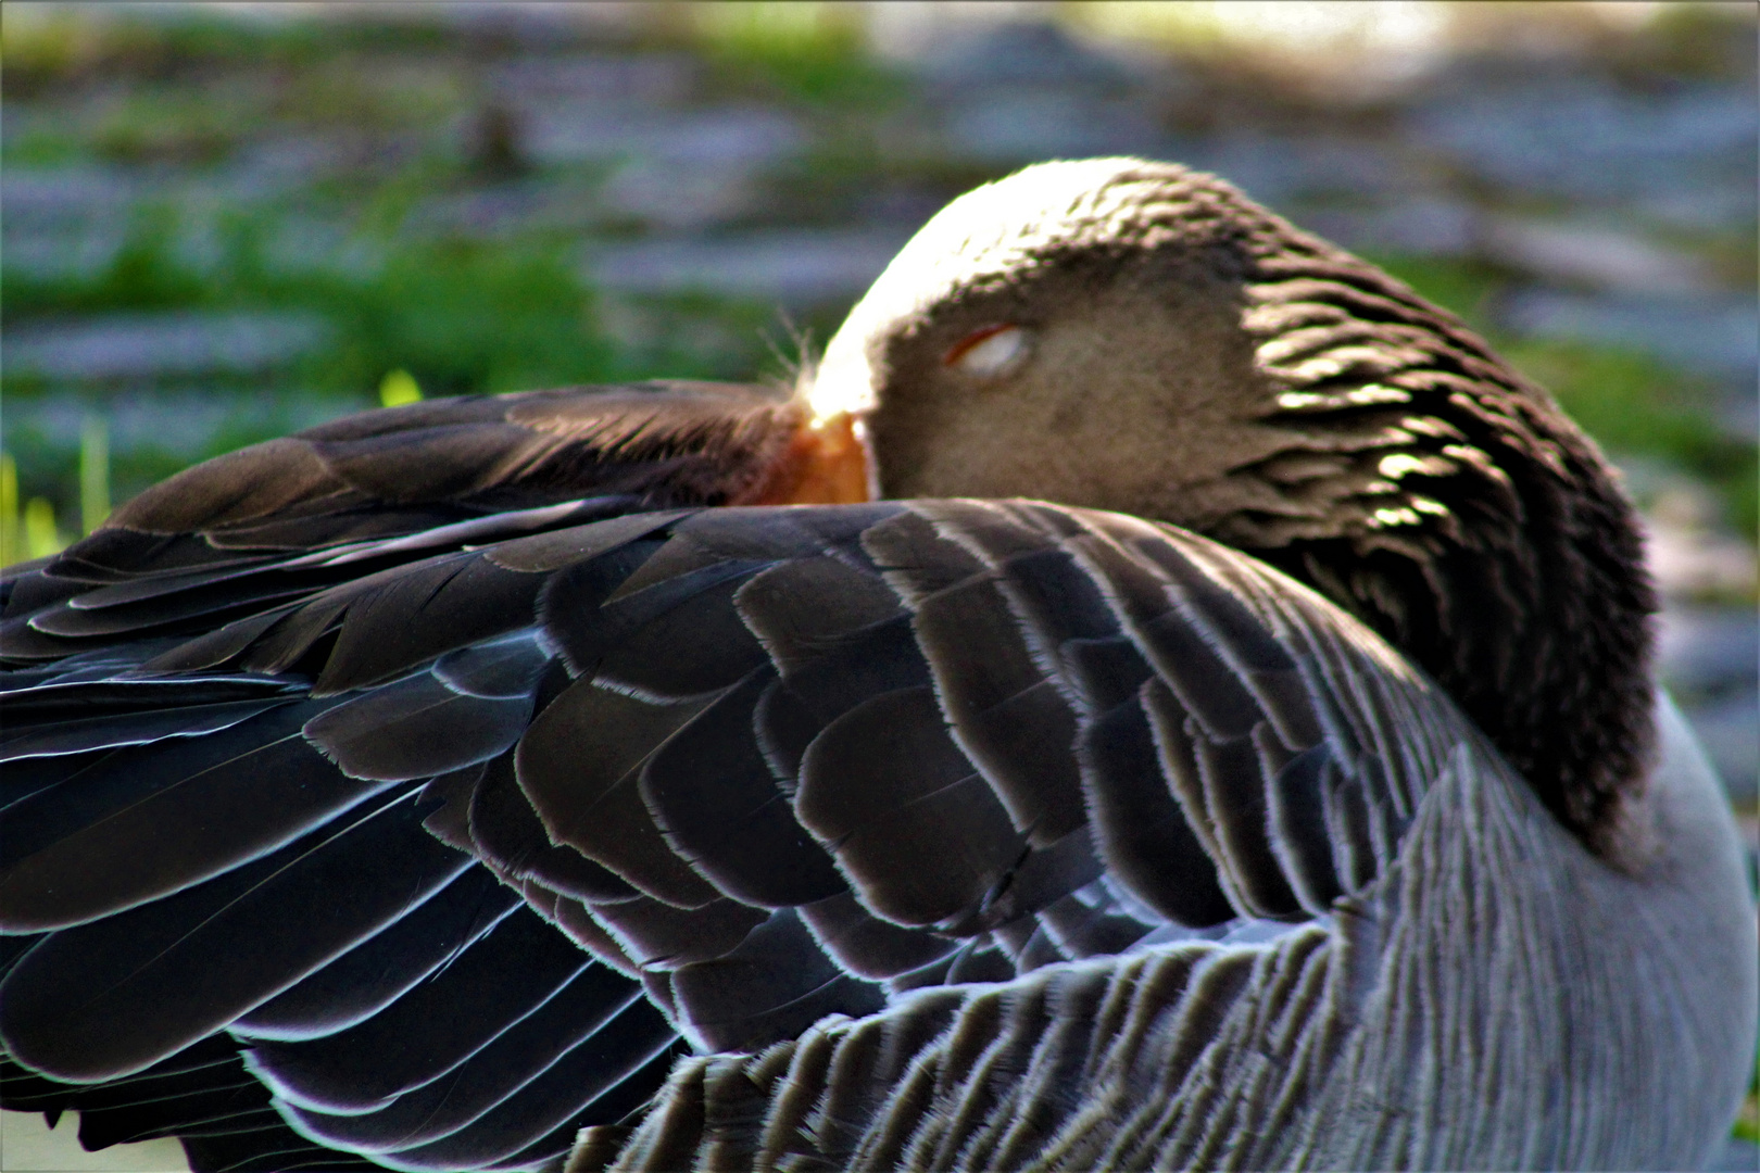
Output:
[[[1028,167],[949,204],[825,348],[818,419],[885,496],[1174,522],[1332,598],[1429,672],[1591,848],[1651,726],[1637,519],[1456,317],[1214,176]]]

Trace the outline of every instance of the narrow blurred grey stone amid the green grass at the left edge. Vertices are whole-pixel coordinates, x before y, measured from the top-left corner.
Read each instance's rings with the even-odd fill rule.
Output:
[[[118,313],[9,331],[0,364],[70,382],[257,371],[315,350],[327,334],[312,313]]]

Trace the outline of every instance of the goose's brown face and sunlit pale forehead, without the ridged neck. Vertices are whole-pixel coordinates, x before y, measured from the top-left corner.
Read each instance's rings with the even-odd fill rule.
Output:
[[[1228,213],[1248,208],[1207,176],[1123,158],[963,195],[832,338],[813,406],[878,404],[887,496],[1051,496],[1197,521],[1227,466],[1276,447],[1243,427],[1265,401],[1243,390],[1269,390],[1241,331],[1246,257]]]

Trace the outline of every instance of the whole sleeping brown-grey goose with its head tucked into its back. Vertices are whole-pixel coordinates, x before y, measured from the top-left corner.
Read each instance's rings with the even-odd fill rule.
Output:
[[[366,412],[5,577],[0,1090],[195,1169],[1695,1168],[1756,1029],[1635,514],[1225,181],[796,389]]]

